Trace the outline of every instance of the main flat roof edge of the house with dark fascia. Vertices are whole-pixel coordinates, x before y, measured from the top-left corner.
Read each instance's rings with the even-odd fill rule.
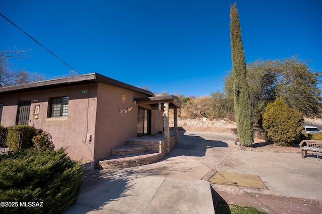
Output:
[[[88,73],[88,74],[82,74],[77,76],[68,76],[68,77],[62,77],[62,78],[56,78],[56,79],[48,79],[43,81],[31,82],[27,84],[0,87],[0,95],[68,87],[73,85],[82,85],[82,84],[89,84],[89,83],[104,83],[104,84],[113,85],[113,86],[128,89],[128,90],[140,92],[148,96],[154,96],[154,94],[151,91],[148,91],[133,85],[129,85],[124,82],[120,82],[118,80],[109,78],[99,73]]]

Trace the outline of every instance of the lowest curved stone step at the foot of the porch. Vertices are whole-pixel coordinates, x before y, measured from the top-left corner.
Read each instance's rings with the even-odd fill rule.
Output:
[[[97,162],[97,169],[117,169],[142,166],[162,159],[163,153],[144,153],[142,155],[111,156]]]

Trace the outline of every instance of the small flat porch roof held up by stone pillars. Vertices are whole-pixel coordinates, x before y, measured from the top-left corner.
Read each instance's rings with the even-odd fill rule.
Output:
[[[149,104],[151,105],[152,109],[158,109],[158,103],[165,103],[165,102],[169,102],[170,109],[181,108],[181,103],[179,101],[179,98],[174,95],[134,98],[134,101],[136,101],[136,104]]]

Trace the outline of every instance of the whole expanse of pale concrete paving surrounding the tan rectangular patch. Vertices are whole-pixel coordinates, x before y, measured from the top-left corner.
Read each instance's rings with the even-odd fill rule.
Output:
[[[179,132],[179,145],[159,162],[87,174],[65,213],[214,213],[207,180],[217,171],[258,175],[268,190],[212,184],[216,200],[267,213],[322,213],[321,158],[242,151],[235,139]]]

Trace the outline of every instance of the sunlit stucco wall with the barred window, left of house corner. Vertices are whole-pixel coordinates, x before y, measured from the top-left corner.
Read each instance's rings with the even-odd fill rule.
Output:
[[[87,90],[86,93],[82,91]],[[68,117],[48,118],[50,97],[69,96]],[[74,160],[93,160],[95,142],[95,116],[97,84],[84,84],[57,89],[39,90],[0,97],[4,103],[2,125],[16,123],[18,101],[31,100],[30,122],[37,129],[52,135],[55,148],[68,147],[67,153]],[[34,101],[38,100],[38,101]],[[33,119],[35,105],[39,104],[39,117]],[[92,135],[92,142],[88,136]]]

